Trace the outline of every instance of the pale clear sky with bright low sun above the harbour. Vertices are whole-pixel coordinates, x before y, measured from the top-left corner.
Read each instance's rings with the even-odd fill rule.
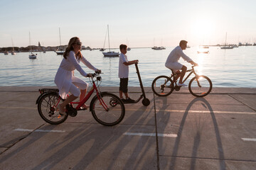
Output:
[[[0,47],[174,47],[256,42],[255,0],[0,0]],[[59,36],[60,28],[60,36]],[[106,40],[105,47],[108,47]]]

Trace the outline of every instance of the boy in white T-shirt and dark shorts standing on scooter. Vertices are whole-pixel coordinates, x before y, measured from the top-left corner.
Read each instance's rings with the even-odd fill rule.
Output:
[[[133,103],[134,100],[132,98],[129,98],[128,95],[128,77],[129,77],[129,65],[138,63],[139,60],[127,60],[127,45],[120,45],[120,56],[119,56],[119,70],[118,70],[118,77],[120,79],[119,84],[119,97],[124,103]],[[123,98],[123,94],[125,95],[125,99]]]

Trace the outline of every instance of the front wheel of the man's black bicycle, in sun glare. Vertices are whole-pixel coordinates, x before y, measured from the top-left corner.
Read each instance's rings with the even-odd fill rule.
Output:
[[[203,97],[210,94],[213,84],[210,79],[206,76],[193,77],[188,84],[188,89],[193,96]]]

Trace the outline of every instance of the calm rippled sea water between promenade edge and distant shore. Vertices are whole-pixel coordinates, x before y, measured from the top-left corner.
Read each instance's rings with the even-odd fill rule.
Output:
[[[132,48],[127,52],[128,60],[139,60],[139,72],[144,86],[151,86],[153,79],[159,75],[171,73],[164,64],[173,49]],[[208,54],[198,54],[198,47],[191,47],[183,52],[198,62],[198,72],[209,77],[214,87],[256,87],[256,46],[242,46],[232,50],[209,47],[207,50]],[[29,60],[28,52],[19,52],[17,55],[0,53],[0,86],[55,86],[55,73],[63,57],[55,52],[37,54],[36,60]],[[101,86],[119,86],[118,57],[103,57],[99,50],[83,50],[82,55],[96,68],[102,69],[104,74]],[[182,58],[180,62],[188,68],[191,66]],[[82,62],[80,64],[85,72],[92,72]],[[75,76],[89,82],[79,72],[75,72]],[[128,86],[139,86],[134,65],[129,66]]]

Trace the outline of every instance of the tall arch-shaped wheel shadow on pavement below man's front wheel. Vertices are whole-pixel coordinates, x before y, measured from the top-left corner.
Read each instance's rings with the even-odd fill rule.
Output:
[[[225,170],[225,157],[224,157],[224,152],[223,152],[223,144],[221,142],[221,138],[220,138],[220,131],[218,128],[218,123],[217,120],[215,118],[215,114],[213,111],[213,108],[210,106],[210,103],[208,103],[208,101],[206,100],[206,98],[194,98],[191,103],[188,104],[185,113],[183,114],[183,118],[181,120],[181,123],[179,125],[178,128],[178,136],[176,137],[175,143],[174,143],[174,149],[173,152],[171,154],[171,169],[173,169],[176,165],[176,158],[178,157],[178,149],[179,149],[179,145],[181,143],[181,135],[183,132],[183,128],[184,125],[186,123],[186,118],[188,116],[188,112],[191,110],[191,107],[193,106],[193,104],[195,104],[196,102],[201,102],[201,104],[205,107],[208,108],[208,110],[210,111],[210,116],[213,120],[213,127],[214,127],[214,132],[215,132],[215,137],[216,137],[216,142],[217,142],[217,146],[218,146],[218,160],[219,160],[219,169],[223,169]],[[190,169],[195,169],[196,166],[196,161],[197,161],[197,154],[198,154],[198,149],[199,149],[199,145],[201,143],[201,132],[203,130],[203,124],[204,122],[201,120],[198,120],[198,123],[196,125],[196,134],[194,136],[194,142],[193,142],[193,152],[191,154],[191,166]]]

